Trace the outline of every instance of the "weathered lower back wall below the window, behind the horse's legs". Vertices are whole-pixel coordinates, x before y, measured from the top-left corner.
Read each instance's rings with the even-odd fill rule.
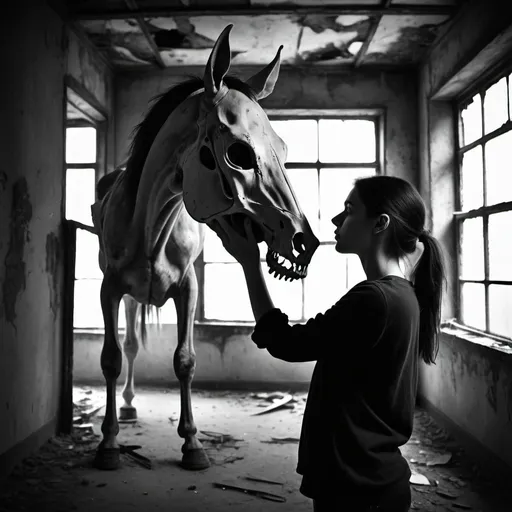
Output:
[[[193,388],[228,389],[307,389],[314,363],[290,364],[258,349],[250,336],[252,328],[240,325],[196,325],[194,347],[197,366]],[[135,360],[137,385],[175,386],[173,356],[177,345],[176,325],[167,324],[158,332],[148,330],[148,347],[140,349]],[[120,335],[123,341],[123,334]],[[82,332],[75,337],[73,374],[80,384],[103,384],[99,364],[103,334]],[[126,376],[126,360],[118,380]]]

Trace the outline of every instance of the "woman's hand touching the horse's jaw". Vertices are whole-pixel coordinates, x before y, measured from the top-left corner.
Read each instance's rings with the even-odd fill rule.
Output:
[[[207,223],[217,233],[226,251],[235,258],[244,269],[260,263],[260,249],[252,231],[249,217],[244,219],[245,237],[238,234],[232,224],[219,217]]]

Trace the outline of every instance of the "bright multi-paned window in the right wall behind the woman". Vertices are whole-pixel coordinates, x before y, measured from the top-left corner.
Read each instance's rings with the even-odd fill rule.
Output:
[[[458,320],[511,339],[512,74],[458,110]]]

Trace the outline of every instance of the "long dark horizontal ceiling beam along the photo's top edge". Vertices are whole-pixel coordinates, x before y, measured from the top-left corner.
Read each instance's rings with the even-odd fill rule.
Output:
[[[380,5],[340,5],[318,6],[318,7],[246,7],[231,8],[230,6],[216,6],[205,8],[181,8],[181,7],[155,7],[154,9],[139,9],[133,11],[127,10],[93,10],[93,9],[76,9],[69,11],[70,19],[75,20],[108,20],[108,19],[133,19],[137,16],[141,18],[157,18],[169,16],[271,16],[278,14],[296,14],[296,15],[362,15],[362,16],[382,16],[384,14],[392,15],[453,15],[457,11],[457,7],[449,5],[399,5],[383,8]]]

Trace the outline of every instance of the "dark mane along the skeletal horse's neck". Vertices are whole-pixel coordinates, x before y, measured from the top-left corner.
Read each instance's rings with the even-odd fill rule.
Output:
[[[223,80],[229,89],[240,91],[256,101],[254,91],[244,81],[229,75]],[[132,131],[132,142],[126,162],[125,183],[127,192],[133,200],[137,196],[144,163],[158,132],[178,105],[202,87],[204,87],[203,79],[191,76],[188,80],[172,86],[150,100],[153,105],[144,119]]]

